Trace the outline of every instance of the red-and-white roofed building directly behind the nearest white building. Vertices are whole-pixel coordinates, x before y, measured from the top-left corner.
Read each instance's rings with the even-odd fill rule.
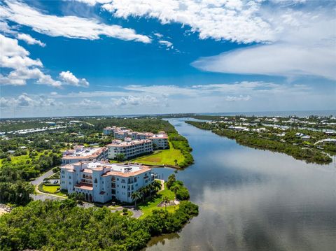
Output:
[[[108,159],[107,148],[84,148],[83,145],[76,145],[73,149],[65,150],[62,156],[62,166],[76,162],[90,162],[92,160]]]

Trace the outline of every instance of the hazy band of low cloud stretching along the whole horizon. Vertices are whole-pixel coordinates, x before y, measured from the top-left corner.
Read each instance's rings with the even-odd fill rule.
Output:
[[[323,85],[323,88],[321,88]],[[1,116],[114,115],[335,109],[335,87],[239,82],[211,85],[130,85],[120,91],[1,96]],[[50,104],[50,105],[48,105]],[[51,106],[51,108],[50,108]],[[34,109],[29,109],[29,108]],[[38,108],[38,109],[36,109]]]

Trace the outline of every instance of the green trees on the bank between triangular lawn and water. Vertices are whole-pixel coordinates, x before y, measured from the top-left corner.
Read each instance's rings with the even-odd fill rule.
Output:
[[[190,145],[188,143],[188,140],[177,133],[177,131],[174,129],[174,132],[169,133],[169,141],[172,143],[173,147],[175,149],[181,150],[181,153],[184,157],[184,161],[179,164],[181,168],[190,166],[194,163],[193,155],[191,155],[191,151],[193,151],[193,148],[190,148]]]

